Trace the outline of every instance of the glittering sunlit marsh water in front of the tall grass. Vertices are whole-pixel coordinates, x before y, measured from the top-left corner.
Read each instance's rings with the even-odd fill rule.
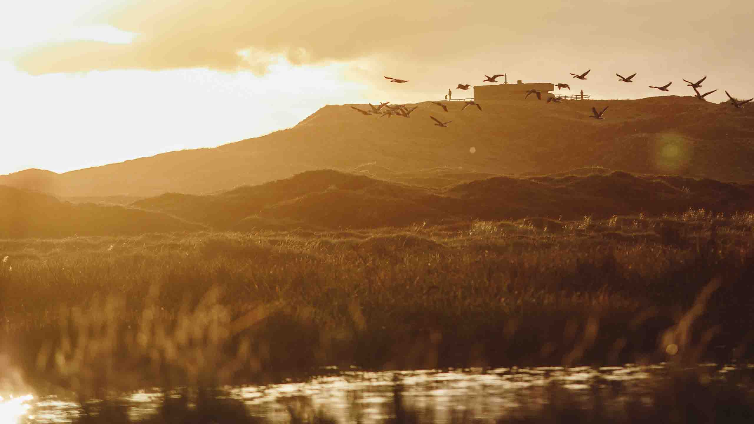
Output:
[[[752,371],[754,366],[700,366],[700,375],[725,379],[731,373]],[[516,408],[547,404],[547,390],[557,385],[578,401],[595,391],[609,394],[608,407],[620,407],[628,398],[650,395],[653,386],[670,372],[665,364],[622,367],[533,367],[497,369],[411,370],[367,372],[323,369],[305,381],[267,386],[227,388],[227,395],[242,401],[253,416],[268,422],[291,422],[314,414],[336,422],[385,422],[395,416],[394,396],[400,393],[406,410],[431,422],[457,422],[458,416],[483,422],[513,413]],[[170,395],[170,394],[168,394]],[[157,413],[164,393],[159,389],[124,398],[131,419]],[[648,396],[647,396],[647,401]],[[54,397],[35,398],[26,419],[32,422],[71,422],[81,413],[78,404]]]

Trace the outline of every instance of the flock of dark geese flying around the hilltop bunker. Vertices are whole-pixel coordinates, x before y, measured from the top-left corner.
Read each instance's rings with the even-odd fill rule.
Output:
[[[572,73],[571,75],[573,75],[572,78],[578,78],[578,79],[581,79],[581,80],[585,80],[585,79],[587,79],[587,74],[589,74],[590,71],[591,71],[591,69],[587,70],[587,72],[584,72],[582,74],[574,74],[574,73]],[[484,75],[486,78],[483,80],[483,82],[498,82],[498,81],[496,81],[497,78],[499,78],[501,76],[504,76],[504,75],[505,74],[495,74],[495,75],[492,75],[492,76],[490,76],[490,75]],[[632,75],[628,75],[627,77],[624,77],[621,74],[615,74],[615,75],[618,75],[618,78],[620,78],[620,79],[618,79],[618,81],[633,82],[633,77],[636,76],[636,72],[634,72]],[[391,82],[395,82],[397,84],[403,84],[403,83],[409,82],[409,80],[407,80],[407,79],[392,78],[392,77],[389,77],[389,76],[386,76],[385,78],[389,79]],[[702,86],[701,84],[702,84],[702,82],[705,79],[706,79],[706,75],[703,78],[701,78],[699,81],[696,81],[696,82],[688,81],[686,79],[683,80],[683,81],[686,81],[688,83],[687,85],[689,87],[691,87],[691,88],[694,89],[694,93],[696,93],[695,97],[698,100],[705,100],[704,97],[707,97],[708,95],[713,94],[715,91],[717,91],[717,90],[707,91],[704,94],[700,94],[700,92],[697,90],[697,88],[701,88],[701,86]],[[670,84],[673,84],[673,81],[670,81],[670,82],[668,82],[667,84],[665,84],[663,86],[650,85],[649,88],[657,88],[657,90],[660,90],[660,91],[670,91],[668,89],[668,87],[670,87]],[[468,90],[470,87],[471,87],[471,84],[458,84],[457,88],[461,89],[461,90]],[[558,90],[561,90],[562,88],[568,88],[569,90],[571,90],[571,87],[569,86],[569,84],[564,84],[564,83],[560,83],[560,82],[558,84],[556,84],[556,87],[558,88]],[[535,96],[537,96],[538,100],[542,100],[542,93],[541,93],[541,91],[535,90],[534,88],[532,88],[529,91],[526,91],[526,96],[524,97],[524,99],[528,99],[529,96],[531,96],[532,94],[535,94]],[[725,91],[725,94],[728,95],[728,98],[731,99],[731,104],[734,107],[736,107],[737,109],[743,109],[743,105],[745,105],[746,103],[749,103],[750,101],[754,100],[754,97],[752,97],[749,100],[737,100],[736,98],[734,98],[733,96],[731,96],[730,94],[728,94],[728,91]],[[554,97],[554,96],[552,96],[552,97],[548,97],[547,98],[547,103],[561,103],[561,102],[562,102],[562,98],[560,98],[560,97]],[[369,104],[369,107],[371,108],[371,110],[363,110],[363,109],[359,109],[359,108],[354,107],[354,106],[351,106],[351,109],[354,109],[354,110],[356,110],[357,112],[359,112],[359,113],[361,113],[363,115],[380,115],[380,118],[385,117],[385,116],[388,116],[388,118],[391,118],[393,115],[402,116],[403,118],[410,118],[411,117],[411,112],[413,112],[415,109],[418,108],[418,106],[414,106],[411,109],[409,109],[408,107],[406,107],[406,105],[391,105],[390,102],[380,103],[379,106],[374,106],[374,105],[372,105],[372,103],[368,103],[368,104]],[[445,103],[432,102],[432,104],[440,106],[441,108],[443,108],[443,111],[448,112],[448,106]],[[461,108],[461,110],[466,109],[468,106],[477,106],[477,108],[479,110],[482,110],[482,106],[479,103],[475,103],[474,100],[467,101],[464,104],[464,106]],[[599,111],[599,112],[597,111],[596,107],[592,107],[592,115],[590,115],[590,118],[604,119],[604,118],[602,118],[602,115],[605,114],[605,111],[608,109],[608,107],[609,106],[605,106],[605,108],[602,109],[602,111]],[[383,110],[383,108],[385,108],[385,110]],[[435,118],[434,116],[431,116],[431,115],[430,115],[430,118],[432,118],[432,120],[435,121],[435,125],[437,125],[440,128],[447,128],[448,124],[450,124],[452,122],[452,121],[440,121],[440,119],[437,119],[437,118]]]

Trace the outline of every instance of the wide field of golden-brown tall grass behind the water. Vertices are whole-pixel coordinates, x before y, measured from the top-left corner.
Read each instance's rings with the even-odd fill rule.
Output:
[[[87,395],[323,364],[746,358],[751,227],[701,215],[0,241],[0,340],[32,384]]]

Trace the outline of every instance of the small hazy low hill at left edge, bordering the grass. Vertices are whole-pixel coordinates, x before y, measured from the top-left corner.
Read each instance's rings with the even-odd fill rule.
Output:
[[[71,204],[0,186],[0,238],[62,238],[195,231],[204,226],[133,207]]]

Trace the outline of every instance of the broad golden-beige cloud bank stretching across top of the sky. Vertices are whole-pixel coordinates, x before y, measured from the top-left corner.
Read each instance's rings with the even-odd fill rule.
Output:
[[[48,44],[15,63],[34,75],[179,68],[250,69],[261,75],[276,57],[317,64],[382,56],[396,66],[467,60],[483,52],[489,63],[521,63],[528,56],[562,52],[567,61],[586,62],[656,53],[667,49],[662,46],[667,40],[682,42],[698,34],[707,46],[748,48],[743,35],[754,35],[744,26],[752,12],[748,2],[721,0],[703,15],[696,11],[700,0],[683,5],[648,0],[597,6],[560,0],[132,1],[93,22],[139,34],[130,44]],[[726,35],[728,26],[740,28],[738,38]]]

